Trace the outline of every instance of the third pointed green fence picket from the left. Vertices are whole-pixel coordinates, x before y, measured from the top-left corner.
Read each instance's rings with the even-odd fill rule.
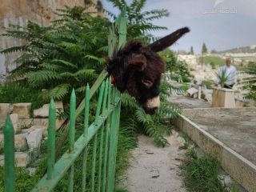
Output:
[[[74,89],[72,90],[72,94],[70,97],[70,147],[69,152],[74,152],[74,129],[75,129],[75,93]],[[69,182],[68,182],[68,191],[73,191],[74,188],[74,165],[70,166],[69,170]]]

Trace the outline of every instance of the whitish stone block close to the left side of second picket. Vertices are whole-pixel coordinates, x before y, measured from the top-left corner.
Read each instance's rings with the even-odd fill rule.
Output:
[[[39,148],[42,142],[42,129],[31,130],[26,136],[26,141],[30,149]]]

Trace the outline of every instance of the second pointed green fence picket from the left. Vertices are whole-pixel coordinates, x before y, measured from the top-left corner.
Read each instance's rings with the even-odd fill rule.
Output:
[[[47,140],[47,179],[54,177],[55,163],[55,128],[56,128],[56,107],[54,100],[50,100],[49,126]]]

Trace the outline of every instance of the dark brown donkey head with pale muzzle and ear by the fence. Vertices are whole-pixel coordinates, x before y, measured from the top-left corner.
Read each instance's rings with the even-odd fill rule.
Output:
[[[114,85],[121,92],[127,90],[143,106],[148,114],[154,114],[160,106],[159,86],[165,72],[165,62],[157,54],[166,49],[190,30],[185,27],[151,43],[127,42],[126,46],[107,61],[107,71]]]

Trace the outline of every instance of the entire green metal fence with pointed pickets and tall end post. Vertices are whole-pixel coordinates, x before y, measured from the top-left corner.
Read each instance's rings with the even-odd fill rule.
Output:
[[[114,46],[122,47],[126,42],[125,8],[115,20],[109,35],[109,56],[113,54]],[[118,37],[114,30],[118,30]],[[90,191],[114,191],[115,159],[118,145],[118,126],[120,116],[120,93],[111,85],[111,79],[106,78],[104,70],[98,77],[92,88],[86,86],[86,95],[83,102],[76,109],[76,96],[74,90],[70,96],[70,122],[68,140],[69,150],[55,161],[55,122],[56,107],[54,100],[50,101],[49,126],[47,139],[47,172],[31,191],[54,191],[58,182],[68,174],[68,191],[74,190],[74,162],[82,155],[82,189],[88,191],[86,183],[86,162],[88,143],[92,142],[92,166],[90,170]],[[90,98],[98,90],[98,103],[94,122],[89,126]],[[83,134],[75,141],[76,118],[83,112]],[[14,162],[14,127],[10,116],[6,118],[4,126],[4,161],[5,161],[5,191],[14,192],[15,189],[15,162]],[[99,142],[99,149],[98,147]],[[98,161],[96,158],[98,157]],[[96,169],[97,167],[97,169]],[[95,172],[98,170],[97,181]],[[97,185],[96,185],[97,184]]]

